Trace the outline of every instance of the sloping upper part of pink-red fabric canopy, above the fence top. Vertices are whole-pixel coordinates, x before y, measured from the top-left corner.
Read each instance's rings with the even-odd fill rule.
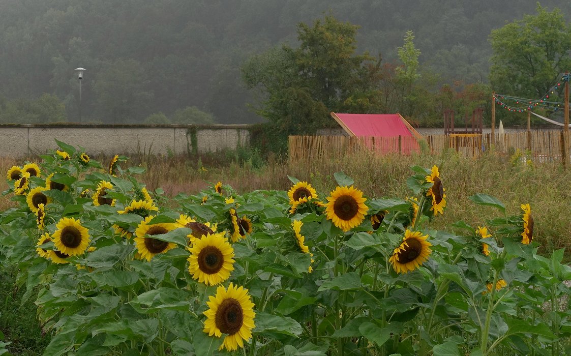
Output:
[[[337,114],[355,136],[412,136],[397,114]]]

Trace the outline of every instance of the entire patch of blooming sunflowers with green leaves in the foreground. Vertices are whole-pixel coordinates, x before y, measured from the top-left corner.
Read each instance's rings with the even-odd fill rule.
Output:
[[[6,173],[0,263],[52,335],[45,355],[571,354],[571,267],[537,254],[533,214],[475,194],[485,226],[447,213],[446,173],[412,167],[408,197],[318,192],[167,197],[143,167],[57,141]],[[0,315],[0,318],[6,318]],[[0,339],[0,355],[10,340]]]

